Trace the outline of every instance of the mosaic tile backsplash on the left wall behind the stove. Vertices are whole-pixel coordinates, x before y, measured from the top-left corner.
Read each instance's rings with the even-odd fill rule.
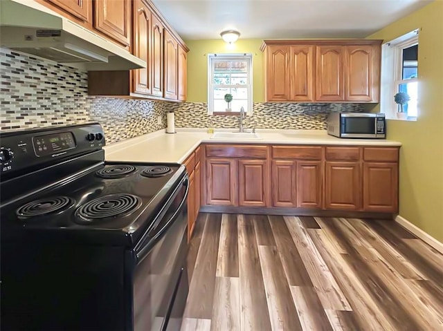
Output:
[[[89,97],[87,72],[6,48],[0,62],[1,131],[100,122],[118,142],[166,127],[170,102]]]

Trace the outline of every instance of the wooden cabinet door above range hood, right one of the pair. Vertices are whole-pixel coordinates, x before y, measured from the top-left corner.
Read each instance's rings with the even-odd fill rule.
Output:
[[[93,27],[124,46],[130,44],[131,1],[95,0]]]

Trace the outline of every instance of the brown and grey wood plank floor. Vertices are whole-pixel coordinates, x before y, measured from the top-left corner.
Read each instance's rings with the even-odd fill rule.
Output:
[[[188,330],[443,330],[443,255],[391,220],[199,214]]]

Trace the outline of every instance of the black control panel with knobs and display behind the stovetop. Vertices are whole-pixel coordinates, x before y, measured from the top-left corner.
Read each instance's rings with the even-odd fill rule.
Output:
[[[8,178],[102,146],[105,135],[98,123],[0,133],[0,173]]]

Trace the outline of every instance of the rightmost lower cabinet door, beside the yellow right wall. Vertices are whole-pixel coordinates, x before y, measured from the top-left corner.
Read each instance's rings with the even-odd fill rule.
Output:
[[[398,211],[398,163],[365,162],[363,165],[363,210]]]

